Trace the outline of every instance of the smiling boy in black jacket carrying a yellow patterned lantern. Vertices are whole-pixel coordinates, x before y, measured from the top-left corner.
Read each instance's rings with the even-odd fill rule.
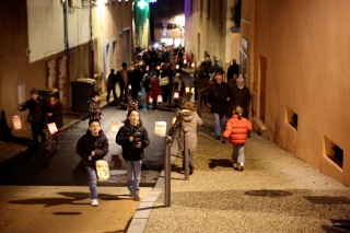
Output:
[[[108,139],[97,119],[89,121],[89,129],[77,143],[77,153],[82,158],[89,174],[91,206],[98,206],[97,174],[95,162],[108,153]]]

